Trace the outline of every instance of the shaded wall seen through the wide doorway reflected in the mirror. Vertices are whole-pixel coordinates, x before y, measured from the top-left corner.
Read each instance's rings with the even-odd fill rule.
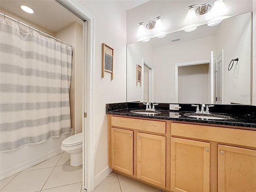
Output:
[[[209,77],[209,63],[178,67],[178,102],[208,103]]]

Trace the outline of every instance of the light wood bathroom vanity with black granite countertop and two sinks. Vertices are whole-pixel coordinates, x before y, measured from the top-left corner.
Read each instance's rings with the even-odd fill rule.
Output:
[[[144,107],[107,104],[108,165],[115,172],[171,192],[256,191],[255,106],[245,109],[248,115],[227,114],[228,120],[130,112]]]

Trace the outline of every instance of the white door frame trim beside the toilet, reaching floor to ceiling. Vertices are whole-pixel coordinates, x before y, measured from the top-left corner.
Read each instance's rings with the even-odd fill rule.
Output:
[[[94,131],[93,131],[93,79],[94,79],[94,50],[95,32],[94,16],[87,12],[80,4],[74,0],[56,0],[68,10],[86,21],[83,26],[84,33],[84,72],[82,90],[82,111],[84,115],[82,121],[83,134],[83,165],[82,165],[82,188],[91,192],[95,188],[94,184]],[[85,39],[86,38],[86,39]],[[85,76],[86,74],[86,76]]]

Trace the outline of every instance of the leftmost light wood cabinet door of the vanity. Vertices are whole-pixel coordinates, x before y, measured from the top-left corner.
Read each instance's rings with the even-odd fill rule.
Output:
[[[111,128],[111,164],[113,169],[133,175],[133,131]]]

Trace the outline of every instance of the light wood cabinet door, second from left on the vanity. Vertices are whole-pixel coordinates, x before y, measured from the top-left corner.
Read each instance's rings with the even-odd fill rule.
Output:
[[[165,188],[166,138],[137,134],[137,178]]]

